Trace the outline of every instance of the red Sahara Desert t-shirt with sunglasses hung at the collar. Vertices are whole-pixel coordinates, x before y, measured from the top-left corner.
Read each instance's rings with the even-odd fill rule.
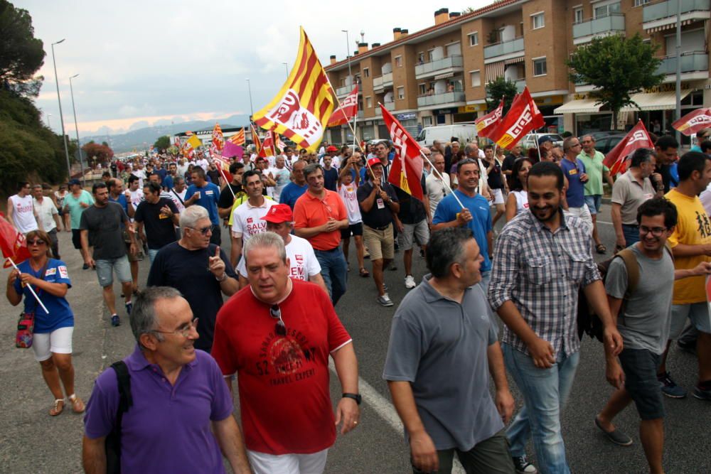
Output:
[[[249,286],[225,303],[215,326],[213,357],[223,375],[237,372],[245,445],[274,455],[316,453],[336,440],[328,356],[351,342],[328,294],[291,282],[279,303],[286,337]]]

